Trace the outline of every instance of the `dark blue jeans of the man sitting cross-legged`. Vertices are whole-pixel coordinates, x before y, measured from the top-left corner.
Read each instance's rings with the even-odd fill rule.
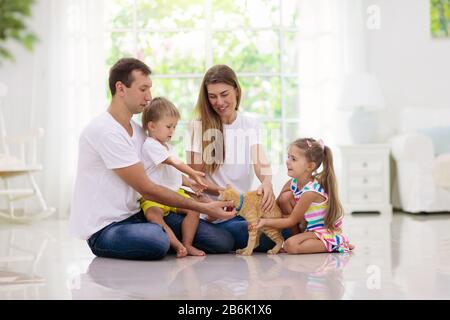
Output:
[[[183,219],[184,215],[177,213],[164,218],[179,239]],[[87,242],[96,256],[116,259],[158,260],[170,248],[169,237],[163,228],[148,222],[142,211],[111,223],[94,233]],[[232,250],[234,240],[229,232],[201,220],[193,244],[206,253],[227,253]]]

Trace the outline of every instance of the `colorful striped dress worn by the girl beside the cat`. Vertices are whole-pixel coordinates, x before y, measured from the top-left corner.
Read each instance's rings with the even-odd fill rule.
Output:
[[[314,232],[327,248],[328,252],[349,252],[348,238],[340,231],[342,228],[342,216],[336,221],[335,231],[325,228],[325,216],[328,208],[328,195],[323,187],[317,181],[308,182],[302,189],[297,186],[297,179],[291,181],[291,191],[294,194],[295,201],[298,201],[305,192],[317,192],[325,198],[324,202],[315,203],[305,212],[307,222],[305,232]]]

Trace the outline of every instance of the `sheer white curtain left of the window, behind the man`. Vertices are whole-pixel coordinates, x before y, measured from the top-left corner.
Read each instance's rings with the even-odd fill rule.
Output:
[[[95,114],[105,110],[103,1],[47,0],[46,56],[33,82],[47,80],[34,93],[31,117],[46,130],[41,185],[59,218],[68,216],[78,157],[78,138]],[[42,79],[43,80],[42,80]],[[40,98],[39,98],[40,97]]]

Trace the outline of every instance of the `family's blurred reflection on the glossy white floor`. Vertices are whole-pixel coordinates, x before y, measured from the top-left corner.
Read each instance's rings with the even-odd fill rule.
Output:
[[[73,299],[340,299],[351,254],[207,255],[136,262],[95,258]]]

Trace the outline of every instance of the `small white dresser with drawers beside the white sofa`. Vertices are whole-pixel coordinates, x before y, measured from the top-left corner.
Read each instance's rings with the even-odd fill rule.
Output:
[[[340,146],[339,190],[345,213],[379,212],[392,218],[389,145]]]

